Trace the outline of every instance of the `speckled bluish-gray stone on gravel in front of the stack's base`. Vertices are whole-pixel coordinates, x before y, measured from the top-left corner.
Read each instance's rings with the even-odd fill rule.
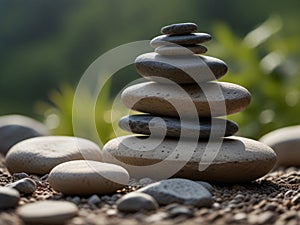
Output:
[[[212,195],[202,185],[180,178],[162,180],[143,187],[137,192],[151,195],[159,205],[179,203],[209,207],[213,202]]]

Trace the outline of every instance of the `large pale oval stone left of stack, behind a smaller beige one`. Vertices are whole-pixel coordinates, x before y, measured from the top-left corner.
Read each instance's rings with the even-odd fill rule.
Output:
[[[79,159],[101,161],[100,148],[83,138],[45,136],[17,143],[9,150],[5,161],[11,174],[46,174],[58,164]]]

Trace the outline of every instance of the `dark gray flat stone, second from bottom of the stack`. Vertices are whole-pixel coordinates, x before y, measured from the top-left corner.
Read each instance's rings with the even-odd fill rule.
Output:
[[[213,120],[213,121],[212,121]],[[212,126],[213,123],[213,126]],[[161,135],[167,137],[209,138],[231,136],[238,131],[238,125],[219,118],[200,118],[199,124],[194,121],[182,121],[174,117],[156,117],[149,114],[125,116],[120,119],[119,127],[136,134]],[[212,131],[212,132],[211,132]]]

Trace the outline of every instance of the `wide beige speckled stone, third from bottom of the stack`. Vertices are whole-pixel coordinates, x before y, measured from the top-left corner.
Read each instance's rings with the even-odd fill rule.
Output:
[[[195,118],[191,104],[195,105],[199,117],[216,117],[244,110],[251,99],[247,89],[232,83],[203,83],[201,88],[205,92],[198,85],[181,87],[183,90],[178,85],[144,82],[126,88],[121,100],[126,107],[140,112]]]

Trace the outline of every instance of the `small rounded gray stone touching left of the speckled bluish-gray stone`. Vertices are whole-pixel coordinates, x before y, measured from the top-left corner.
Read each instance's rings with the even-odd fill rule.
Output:
[[[158,209],[156,200],[145,193],[131,192],[117,201],[117,208],[121,212],[135,213]]]

